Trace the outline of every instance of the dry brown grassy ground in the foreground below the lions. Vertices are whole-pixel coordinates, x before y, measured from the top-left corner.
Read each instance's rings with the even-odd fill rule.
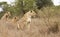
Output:
[[[34,18],[29,30],[18,30],[11,22],[0,20],[0,37],[60,37],[60,18]]]

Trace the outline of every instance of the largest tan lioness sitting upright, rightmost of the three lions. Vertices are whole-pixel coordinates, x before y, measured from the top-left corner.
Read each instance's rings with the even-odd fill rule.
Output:
[[[36,13],[33,10],[25,13],[24,16],[19,21],[17,21],[17,25],[18,25],[17,29],[22,29],[22,30],[25,28],[30,29],[30,23],[31,23],[32,16],[35,16],[35,15]]]

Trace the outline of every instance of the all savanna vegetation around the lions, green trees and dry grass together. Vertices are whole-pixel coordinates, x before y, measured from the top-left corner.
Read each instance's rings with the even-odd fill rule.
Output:
[[[12,4],[0,2],[0,6],[0,18],[7,12],[11,13],[10,18],[22,18],[30,10],[37,13],[29,31],[17,30],[15,23],[0,20],[1,37],[60,37],[60,6],[54,6],[51,0],[15,0]]]

